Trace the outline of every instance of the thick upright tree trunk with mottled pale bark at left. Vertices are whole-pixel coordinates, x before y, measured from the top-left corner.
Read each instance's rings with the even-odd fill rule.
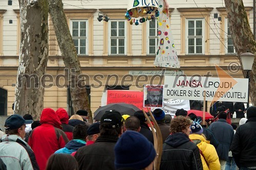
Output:
[[[47,0],[19,1],[20,47],[14,113],[31,114],[38,120],[44,103],[48,60]]]

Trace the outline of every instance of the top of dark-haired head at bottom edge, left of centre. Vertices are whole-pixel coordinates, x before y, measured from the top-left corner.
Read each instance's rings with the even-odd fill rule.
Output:
[[[68,154],[54,154],[47,161],[46,170],[78,170],[76,159]]]

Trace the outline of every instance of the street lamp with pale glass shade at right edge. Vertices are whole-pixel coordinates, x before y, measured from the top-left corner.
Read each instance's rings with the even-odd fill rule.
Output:
[[[243,69],[246,71],[246,78],[248,79],[248,83],[250,83],[250,77],[249,77],[249,71],[252,69],[252,64],[254,61],[254,54],[246,52],[240,55]],[[247,109],[249,108],[249,88],[250,85],[248,85],[248,101],[247,101]]]

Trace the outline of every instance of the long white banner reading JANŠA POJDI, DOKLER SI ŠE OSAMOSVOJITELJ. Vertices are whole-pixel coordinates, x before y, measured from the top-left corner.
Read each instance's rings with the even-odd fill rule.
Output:
[[[205,91],[205,92],[204,92]],[[248,79],[164,77],[164,99],[247,102]]]

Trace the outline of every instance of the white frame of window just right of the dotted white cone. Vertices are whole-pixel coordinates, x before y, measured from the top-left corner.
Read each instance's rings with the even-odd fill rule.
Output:
[[[201,20],[202,21],[202,36],[191,36],[188,37],[188,21],[196,21],[196,20]],[[186,18],[186,54],[187,55],[204,55],[204,51],[205,51],[205,23],[204,23],[204,18]],[[196,32],[196,29],[195,29]],[[188,53],[188,38],[195,38],[195,53]],[[202,38],[202,53],[196,53],[196,38]]]

